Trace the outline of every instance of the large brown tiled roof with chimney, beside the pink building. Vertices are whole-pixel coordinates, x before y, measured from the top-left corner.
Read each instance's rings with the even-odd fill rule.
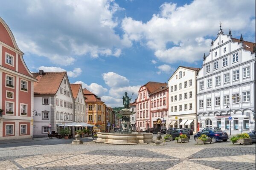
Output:
[[[34,82],[34,95],[55,95],[66,72],[46,72],[43,75],[32,73],[38,81]]]

